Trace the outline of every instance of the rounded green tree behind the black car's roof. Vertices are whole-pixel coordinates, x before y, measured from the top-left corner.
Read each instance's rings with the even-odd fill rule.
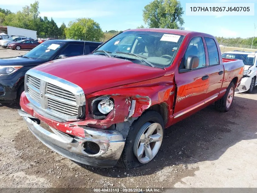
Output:
[[[100,41],[103,37],[99,23],[90,18],[79,18],[70,21],[65,29],[66,38]]]

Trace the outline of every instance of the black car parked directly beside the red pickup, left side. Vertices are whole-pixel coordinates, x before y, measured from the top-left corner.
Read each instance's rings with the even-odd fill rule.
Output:
[[[0,59],[0,100],[20,98],[27,70],[55,59],[89,54],[99,45],[101,43],[90,41],[49,40],[23,56]]]

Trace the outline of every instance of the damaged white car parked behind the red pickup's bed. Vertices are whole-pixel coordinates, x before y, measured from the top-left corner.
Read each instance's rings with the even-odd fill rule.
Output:
[[[241,80],[241,84],[235,90],[235,92],[252,92],[253,88],[257,85],[257,53],[232,51],[223,53],[222,58],[243,60],[245,64],[244,75]]]

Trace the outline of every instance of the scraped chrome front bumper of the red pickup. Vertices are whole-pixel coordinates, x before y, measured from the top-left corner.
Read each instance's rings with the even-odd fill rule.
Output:
[[[85,138],[71,137],[53,128],[50,128],[52,131],[50,132],[33,121],[35,117],[23,110],[18,110],[18,112],[20,116],[23,116],[29,130],[36,138],[55,152],[76,162],[90,166],[111,167],[117,163],[123,151],[125,139],[117,131],[83,126]],[[99,146],[99,152],[96,154],[85,152],[86,142],[96,143]]]

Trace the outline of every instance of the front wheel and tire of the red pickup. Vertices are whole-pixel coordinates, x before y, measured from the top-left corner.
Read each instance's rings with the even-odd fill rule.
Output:
[[[143,140],[141,137],[142,135],[145,136],[145,134],[147,134],[147,133],[144,134],[144,130],[147,128],[147,130],[145,131],[148,131],[148,128],[150,125],[152,126],[152,128],[156,126],[156,129],[154,130],[153,134],[148,135],[148,137],[145,137],[146,142],[143,143],[140,141],[140,140]],[[151,133],[150,130],[149,130],[149,133]],[[162,133],[162,136],[161,136],[161,133]],[[156,142],[153,141],[153,138],[149,137],[149,136],[153,136],[154,134],[158,134],[158,141]],[[130,126],[130,130],[126,138],[125,146],[120,156],[119,163],[126,168],[139,167],[146,163],[149,163],[157,155],[159,151],[159,148],[161,146],[161,142],[163,139],[163,134],[164,134],[164,121],[161,115],[154,110],[149,110],[143,113]],[[151,149],[150,152],[152,152],[152,157],[148,156],[150,157],[148,158],[145,153],[146,151],[142,151],[144,154],[141,154],[141,158],[137,158],[136,156],[137,154],[135,151],[137,151],[141,147],[141,145],[143,145],[145,150],[147,150],[146,148],[148,148],[148,150],[149,148]],[[141,162],[139,160],[141,160]]]

